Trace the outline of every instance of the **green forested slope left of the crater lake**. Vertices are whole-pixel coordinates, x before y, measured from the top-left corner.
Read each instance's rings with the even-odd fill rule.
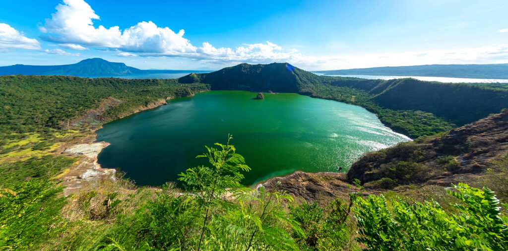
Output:
[[[102,121],[130,115],[167,98],[208,90],[205,84],[179,84],[175,79],[78,78],[67,76],[0,77],[0,133],[52,132],[107,97],[123,101],[100,114]]]

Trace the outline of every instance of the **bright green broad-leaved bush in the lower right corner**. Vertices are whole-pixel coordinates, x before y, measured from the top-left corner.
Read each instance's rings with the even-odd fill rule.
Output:
[[[449,193],[463,202],[453,205],[454,214],[436,201],[409,204],[398,199],[391,208],[383,195],[359,198],[358,240],[366,250],[506,250],[508,218],[494,192],[463,183],[454,188],[457,192]]]

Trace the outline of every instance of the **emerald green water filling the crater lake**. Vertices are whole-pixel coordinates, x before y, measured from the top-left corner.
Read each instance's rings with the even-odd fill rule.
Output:
[[[205,145],[226,143],[228,134],[252,170],[243,184],[292,173],[347,171],[367,151],[408,141],[367,110],[296,93],[207,91],[107,123],[98,141],[103,168],[118,168],[138,185],[177,181]]]

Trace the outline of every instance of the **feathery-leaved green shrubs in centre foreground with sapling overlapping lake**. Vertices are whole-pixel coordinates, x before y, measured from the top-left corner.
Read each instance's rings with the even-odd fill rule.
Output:
[[[111,244],[165,250],[296,249],[288,229],[299,228],[284,210],[292,198],[263,188],[242,188],[240,171],[249,170],[243,157],[229,140],[216,145],[218,148],[207,147],[208,152],[198,156],[207,158],[211,167],[190,168],[180,174],[188,194],[178,194],[173,185],[165,185],[145,210],[121,219],[111,232]]]

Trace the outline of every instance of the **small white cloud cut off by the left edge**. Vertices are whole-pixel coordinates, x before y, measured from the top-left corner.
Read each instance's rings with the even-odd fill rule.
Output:
[[[0,50],[28,49],[39,50],[41,44],[36,39],[30,39],[7,23],[0,23]]]

